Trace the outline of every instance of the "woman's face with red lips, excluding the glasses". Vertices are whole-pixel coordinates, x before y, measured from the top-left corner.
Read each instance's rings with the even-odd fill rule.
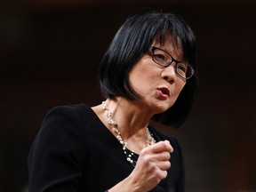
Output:
[[[168,39],[164,46],[158,43],[152,45],[169,52],[175,60],[183,60],[182,49],[177,48],[172,38]],[[163,113],[171,108],[186,84],[186,80],[175,73],[173,65],[175,62],[168,67],[156,64],[148,52],[130,71],[130,84],[135,92],[142,96],[142,100],[136,102],[152,114]]]

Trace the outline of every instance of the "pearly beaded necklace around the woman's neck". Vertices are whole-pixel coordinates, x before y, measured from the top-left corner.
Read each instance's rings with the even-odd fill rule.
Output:
[[[109,111],[109,109],[106,107],[106,102],[102,102],[103,109],[105,111],[105,114],[108,118],[108,124],[110,125],[111,132],[114,133],[116,136],[116,139],[119,140],[120,144],[123,146],[124,155],[126,156],[126,160],[132,164],[132,166],[135,167],[137,163],[137,158],[134,156],[134,152],[127,148],[127,142],[123,140],[123,137],[121,133],[118,131],[118,124],[116,124],[116,121],[112,118],[112,113]],[[145,147],[151,146],[156,143],[156,140],[153,138],[153,135],[151,132],[149,132],[148,127],[146,128],[146,143]]]

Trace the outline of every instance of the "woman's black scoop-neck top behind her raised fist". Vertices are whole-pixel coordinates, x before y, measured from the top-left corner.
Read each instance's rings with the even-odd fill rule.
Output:
[[[168,177],[151,191],[184,191],[184,169],[176,140],[148,127],[156,141],[170,140],[174,152]],[[124,180],[133,166],[122,145],[84,104],[53,108],[28,155],[30,192],[102,192]]]

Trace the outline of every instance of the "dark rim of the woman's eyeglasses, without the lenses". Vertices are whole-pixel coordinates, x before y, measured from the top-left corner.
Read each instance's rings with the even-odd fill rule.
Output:
[[[176,73],[178,76],[180,76],[181,78],[186,79],[186,80],[188,80],[189,78],[191,78],[192,76],[194,76],[194,72],[195,72],[195,71],[194,71],[194,68],[192,68],[192,66],[189,65],[188,62],[182,61],[182,60],[175,60],[169,52],[165,52],[165,53],[170,56],[170,58],[172,59],[171,61],[167,62],[166,65],[157,62],[157,61],[154,59],[154,55],[155,55],[155,54],[154,54],[154,51],[155,51],[155,50],[161,50],[162,52],[165,52],[165,51],[164,51],[163,49],[159,48],[159,47],[156,47],[156,46],[149,46],[148,51],[151,53],[152,60],[153,60],[154,62],[156,62],[157,65],[160,65],[160,66],[162,66],[162,67],[167,68],[168,66],[172,65],[173,62],[175,62],[175,65],[174,65],[175,73]],[[178,65],[179,63],[185,63],[185,64],[188,66],[189,70],[191,71],[191,75],[190,75],[190,76],[184,77],[184,76],[181,76],[181,75],[179,74],[178,68],[177,68],[177,65]]]

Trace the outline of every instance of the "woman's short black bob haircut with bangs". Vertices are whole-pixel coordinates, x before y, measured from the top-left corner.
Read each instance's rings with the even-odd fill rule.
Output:
[[[177,15],[158,11],[141,12],[128,18],[119,28],[100,65],[100,86],[106,98],[116,96],[128,100],[141,99],[132,89],[129,72],[148,47],[156,41],[164,45],[170,38],[183,51],[184,60],[194,68],[195,75],[187,80],[176,102],[153,120],[179,127],[187,118],[197,88],[196,37],[188,24]]]

